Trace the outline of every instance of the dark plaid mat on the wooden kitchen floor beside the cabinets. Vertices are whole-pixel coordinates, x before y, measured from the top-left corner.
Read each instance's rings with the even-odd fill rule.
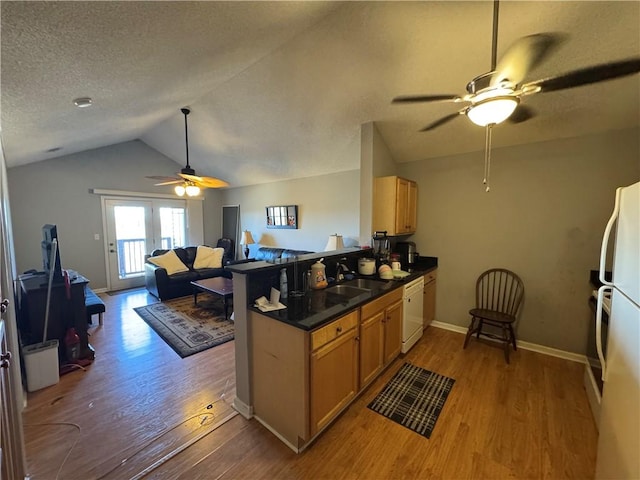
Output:
[[[368,407],[430,438],[455,380],[405,363]]]

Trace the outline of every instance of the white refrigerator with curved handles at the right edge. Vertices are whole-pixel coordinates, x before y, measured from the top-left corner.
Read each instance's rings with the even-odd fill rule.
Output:
[[[614,245],[612,281],[604,278],[609,239]],[[640,478],[640,183],[616,190],[614,212],[600,253],[596,346],[604,381],[596,478]],[[606,358],[601,314],[606,290],[611,313]]]

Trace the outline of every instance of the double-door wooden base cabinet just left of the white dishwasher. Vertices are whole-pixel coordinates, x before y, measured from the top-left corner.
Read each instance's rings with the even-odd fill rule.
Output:
[[[360,323],[360,388],[400,354],[402,289],[363,305]]]

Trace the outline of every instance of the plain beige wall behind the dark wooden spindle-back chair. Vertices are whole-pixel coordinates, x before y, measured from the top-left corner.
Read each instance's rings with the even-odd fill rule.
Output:
[[[490,267],[518,273],[521,340],[584,353],[589,271],[615,188],[640,179],[638,129],[399,165],[416,180],[422,255],[438,257],[437,320],[467,326],[474,282]]]

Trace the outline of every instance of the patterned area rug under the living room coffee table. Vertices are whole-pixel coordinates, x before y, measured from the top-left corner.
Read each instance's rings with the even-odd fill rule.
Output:
[[[225,320],[220,302],[181,297],[134,308],[182,358],[233,340],[231,320]]]

